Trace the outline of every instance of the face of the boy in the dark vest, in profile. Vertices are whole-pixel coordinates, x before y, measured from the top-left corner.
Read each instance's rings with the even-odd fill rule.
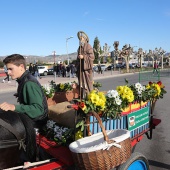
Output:
[[[11,76],[13,80],[20,78],[22,74],[25,72],[25,68],[23,64],[16,66],[12,63],[8,63],[6,66],[8,68],[8,74],[9,76]]]

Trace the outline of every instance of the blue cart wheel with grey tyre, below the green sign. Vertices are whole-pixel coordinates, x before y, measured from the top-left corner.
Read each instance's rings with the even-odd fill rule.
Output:
[[[149,162],[144,155],[135,152],[117,170],[149,170]]]

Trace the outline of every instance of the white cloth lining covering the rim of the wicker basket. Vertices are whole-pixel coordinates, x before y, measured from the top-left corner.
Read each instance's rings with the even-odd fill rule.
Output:
[[[110,140],[114,140],[115,143],[120,143],[127,138],[130,138],[130,131],[125,129],[106,130],[106,133]],[[108,144],[103,137],[103,133],[99,132],[92,136],[88,136],[77,141],[72,142],[69,145],[69,149],[74,153],[88,153],[101,149],[105,149]]]

